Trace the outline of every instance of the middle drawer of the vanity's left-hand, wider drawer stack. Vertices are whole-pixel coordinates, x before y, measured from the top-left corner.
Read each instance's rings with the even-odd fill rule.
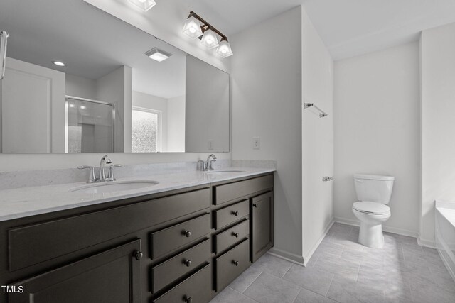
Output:
[[[210,239],[151,268],[151,293],[191,272],[210,258]],[[190,261],[188,263],[188,261]]]

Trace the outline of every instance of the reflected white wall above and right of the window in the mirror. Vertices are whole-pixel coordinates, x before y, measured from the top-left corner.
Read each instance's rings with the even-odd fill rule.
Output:
[[[133,91],[133,106],[161,111],[161,151],[168,151],[168,99]]]

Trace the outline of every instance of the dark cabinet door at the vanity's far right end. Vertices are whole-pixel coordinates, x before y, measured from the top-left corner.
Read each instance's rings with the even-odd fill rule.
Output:
[[[268,192],[251,200],[251,260],[256,262],[273,246],[273,193]]]

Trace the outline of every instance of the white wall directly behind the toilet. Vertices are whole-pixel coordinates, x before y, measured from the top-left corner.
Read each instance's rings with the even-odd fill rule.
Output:
[[[355,173],[392,175],[385,230],[416,236],[419,222],[419,45],[337,61],[335,77],[336,219],[357,222]]]

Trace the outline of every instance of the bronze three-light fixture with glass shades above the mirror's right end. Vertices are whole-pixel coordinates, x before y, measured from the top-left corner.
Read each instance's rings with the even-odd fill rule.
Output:
[[[193,39],[199,38],[201,40],[200,43],[209,50],[218,46],[216,53],[220,57],[232,56],[228,37],[211,26],[203,18],[200,18],[194,11],[190,11],[190,15],[186,19],[185,26],[183,26],[183,33],[186,33],[186,35]],[[217,34],[221,37],[220,43],[218,43]]]

